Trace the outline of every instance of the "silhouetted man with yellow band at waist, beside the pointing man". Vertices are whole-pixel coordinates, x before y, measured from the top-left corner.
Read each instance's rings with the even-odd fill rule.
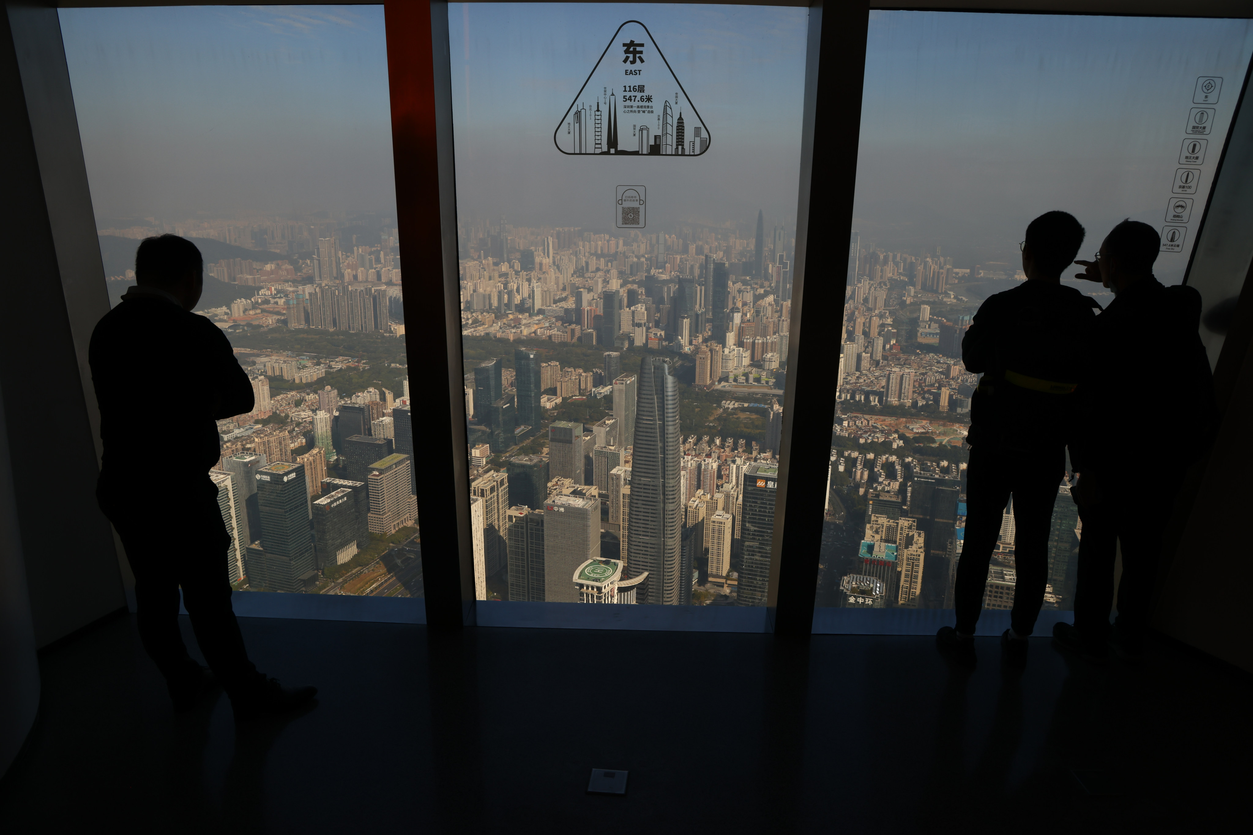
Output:
[[[1096,303],[1061,284],[1084,228],[1049,212],[1026,228],[1027,280],[987,297],[961,343],[966,371],[981,373],[971,403],[966,540],[957,563],[956,628],[936,635],[945,652],[974,662],[971,637],[984,607],[987,566],[1014,496],[1014,608],[1001,635],[1010,666],[1026,660],[1026,637],[1044,605],[1049,525],[1073,426],[1075,388]]]

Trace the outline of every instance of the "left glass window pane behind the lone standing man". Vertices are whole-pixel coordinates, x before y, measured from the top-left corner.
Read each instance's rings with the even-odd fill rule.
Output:
[[[110,304],[135,285],[140,239],[189,238],[195,312],[252,378],[256,408],[218,422],[209,472],[228,578],[421,597],[382,6],[60,20]],[[125,361],[162,368],[159,351]],[[158,378],[137,404],[163,454],[197,396],[194,379]]]

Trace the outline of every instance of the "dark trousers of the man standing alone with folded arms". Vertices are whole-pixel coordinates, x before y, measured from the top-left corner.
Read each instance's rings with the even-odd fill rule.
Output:
[[[135,575],[139,637],[167,681],[197,671],[178,626],[182,587],[195,641],[223,689],[236,695],[256,685],[257,669],[248,661],[231,608],[231,536],[217,487],[207,477],[183,488],[155,482],[127,487],[101,479],[96,499],[125,546]]]

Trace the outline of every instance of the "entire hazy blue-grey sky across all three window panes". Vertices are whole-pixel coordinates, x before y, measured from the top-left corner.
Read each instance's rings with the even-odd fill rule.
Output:
[[[60,18],[98,217],[392,212],[381,6]],[[699,109],[709,153],[554,146],[628,20],[648,26]],[[653,228],[751,233],[758,208],[791,225],[806,24],[781,6],[451,4],[461,218],[608,228],[614,187],[629,183],[647,187]],[[1222,76],[1188,247],[1159,259],[1163,278],[1182,277],[1253,23],[877,11],[868,38],[855,227],[912,252],[944,245],[959,265],[1015,258],[1027,222],[1055,208],[1089,228],[1085,250],[1124,217],[1164,225],[1197,79]]]

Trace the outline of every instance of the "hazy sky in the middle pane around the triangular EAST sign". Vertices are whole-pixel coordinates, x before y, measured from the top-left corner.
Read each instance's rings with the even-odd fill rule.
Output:
[[[638,20],[712,136],[680,156],[566,156],[553,144],[618,28]],[[663,4],[450,4],[457,209],[462,220],[610,228],[615,185],[648,189],[648,225],[796,215],[807,11]],[[616,39],[621,40],[621,39]],[[610,50],[620,83],[623,51]],[[645,61],[655,60],[649,55]],[[603,65],[604,66],[604,65]],[[648,65],[660,73],[660,63]],[[616,76],[615,76],[616,78]],[[600,85],[580,100],[593,104]],[[664,84],[663,96],[674,94]],[[652,91],[654,88],[649,88]],[[682,98],[682,96],[680,96]],[[673,100],[673,99],[672,99]],[[687,115],[690,119],[690,114]],[[623,119],[624,124],[628,119]],[[689,136],[690,136],[690,128]],[[629,140],[619,130],[619,143]]]

